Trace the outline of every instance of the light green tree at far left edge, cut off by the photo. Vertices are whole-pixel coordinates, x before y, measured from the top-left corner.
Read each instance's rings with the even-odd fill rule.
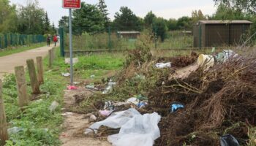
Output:
[[[0,0],[1,33],[17,31],[17,14],[15,9],[15,5],[10,5],[9,0]]]

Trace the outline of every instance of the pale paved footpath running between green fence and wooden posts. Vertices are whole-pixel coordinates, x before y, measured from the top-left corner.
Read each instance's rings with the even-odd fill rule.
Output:
[[[48,50],[50,50],[52,47],[53,45],[50,47],[37,47],[21,53],[0,57],[0,79],[4,76],[4,74],[14,73],[15,66],[26,66],[27,59],[34,59],[34,61],[36,61],[37,56],[42,56],[44,58],[46,55],[48,55]]]

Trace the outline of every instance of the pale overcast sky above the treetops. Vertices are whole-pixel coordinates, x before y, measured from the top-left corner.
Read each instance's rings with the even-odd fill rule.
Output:
[[[14,4],[26,4],[27,0],[10,0]],[[98,0],[82,0],[89,4],[97,4]],[[213,0],[105,0],[108,6],[109,17],[113,20],[120,7],[127,6],[135,12],[135,15],[144,18],[152,10],[154,14],[162,18],[180,18],[191,16],[192,10],[201,9],[203,14],[211,15],[215,12]],[[62,8],[62,0],[39,0],[40,7],[49,15],[50,21],[56,26],[61,16],[68,15],[68,9]]]

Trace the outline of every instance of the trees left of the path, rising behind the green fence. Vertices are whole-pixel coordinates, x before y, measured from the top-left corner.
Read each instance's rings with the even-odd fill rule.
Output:
[[[39,7],[37,0],[26,5],[10,4],[0,0],[0,33],[56,34],[56,26],[50,24],[48,13]]]

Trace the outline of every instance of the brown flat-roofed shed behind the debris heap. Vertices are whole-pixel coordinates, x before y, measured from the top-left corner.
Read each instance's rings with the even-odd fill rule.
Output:
[[[248,20],[200,20],[194,26],[194,47],[238,45],[249,32]]]

